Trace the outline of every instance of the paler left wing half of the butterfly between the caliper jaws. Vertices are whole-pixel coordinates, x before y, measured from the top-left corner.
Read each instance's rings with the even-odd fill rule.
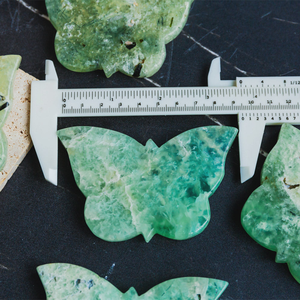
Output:
[[[87,197],[85,220],[91,231],[107,241],[138,235],[136,209],[127,193],[144,164],[144,146],[116,131],[71,127],[57,132],[69,154],[75,181]]]

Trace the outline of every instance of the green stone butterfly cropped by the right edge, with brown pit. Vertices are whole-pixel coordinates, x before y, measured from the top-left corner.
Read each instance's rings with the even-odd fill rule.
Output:
[[[300,283],[300,131],[283,124],[277,144],[265,160],[261,186],[241,212],[247,233],[276,251]]]

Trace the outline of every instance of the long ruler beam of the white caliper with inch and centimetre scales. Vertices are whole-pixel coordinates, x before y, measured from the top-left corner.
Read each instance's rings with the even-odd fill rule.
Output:
[[[280,120],[283,113],[276,111],[287,110],[285,115],[292,116],[290,111],[299,110],[300,99],[298,87],[67,89],[60,92],[61,113],[58,116],[61,117],[239,112],[246,116],[244,112],[259,111],[256,116],[272,116]],[[274,101],[274,97],[280,101]],[[270,114],[270,111],[274,113]],[[298,113],[293,116],[298,116]]]

